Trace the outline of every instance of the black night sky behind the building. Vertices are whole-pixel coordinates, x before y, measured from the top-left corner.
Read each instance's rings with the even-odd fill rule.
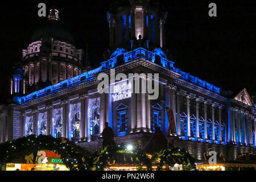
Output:
[[[1,2],[0,102],[9,92],[12,65],[20,60],[31,35],[46,18],[39,18],[38,3],[55,6],[76,40],[77,48],[89,44],[89,60],[100,65],[109,45],[106,11],[108,1],[6,1]],[[253,1],[165,2],[167,49],[175,67],[234,93],[246,88],[256,93],[256,6]],[[208,16],[210,2],[217,4],[217,18]]]

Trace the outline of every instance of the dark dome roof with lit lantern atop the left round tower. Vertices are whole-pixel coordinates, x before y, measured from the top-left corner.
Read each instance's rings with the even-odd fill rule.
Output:
[[[68,30],[63,27],[63,24],[61,24],[59,11],[57,10],[50,10],[47,22],[32,34],[31,41],[36,42],[42,38],[53,38],[75,46],[75,40]]]

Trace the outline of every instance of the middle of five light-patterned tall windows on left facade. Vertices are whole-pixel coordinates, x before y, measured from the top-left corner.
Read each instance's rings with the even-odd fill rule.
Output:
[[[62,121],[62,107],[59,109],[53,109],[53,137],[60,138],[62,137],[62,127],[63,127],[63,121]]]

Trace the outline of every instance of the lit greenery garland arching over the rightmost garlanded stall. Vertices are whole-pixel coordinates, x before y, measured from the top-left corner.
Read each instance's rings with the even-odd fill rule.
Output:
[[[184,171],[196,170],[195,159],[184,148],[174,147],[162,150],[151,158],[152,165],[158,166],[157,170],[163,170],[163,166],[166,166],[166,170],[174,164],[182,164]]]

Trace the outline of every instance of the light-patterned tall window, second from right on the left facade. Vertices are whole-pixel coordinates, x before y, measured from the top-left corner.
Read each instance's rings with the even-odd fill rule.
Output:
[[[71,104],[69,106],[69,137],[79,139],[80,138],[80,112],[81,104]]]

